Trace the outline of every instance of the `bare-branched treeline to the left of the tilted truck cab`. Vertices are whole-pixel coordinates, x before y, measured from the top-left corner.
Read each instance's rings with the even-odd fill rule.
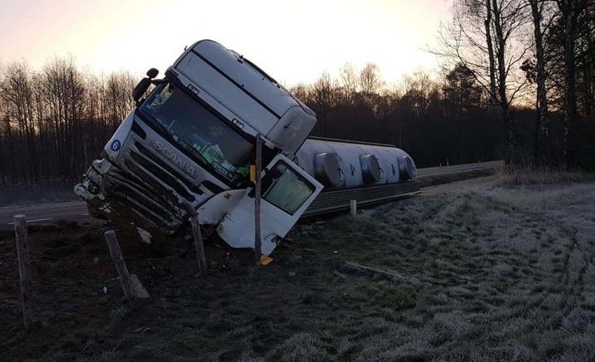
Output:
[[[80,71],[71,58],[0,68],[0,184],[78,180],[133,107],[136,82]]]

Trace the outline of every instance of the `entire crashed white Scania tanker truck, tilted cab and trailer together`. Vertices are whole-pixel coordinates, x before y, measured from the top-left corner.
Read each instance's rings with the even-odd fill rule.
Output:
[[[265,255],[302,215],[419,189],[413,160],[397,147],[308,138],[315,113],[219,43],[198,41],[163,78],[158,73],[152,68],[140,80],[136,107],[75,185],[89,208],[110,219],[175,233],[187,224],[190,205],[205,230],[231,247],[254,248],[249,166],[257,135]]]

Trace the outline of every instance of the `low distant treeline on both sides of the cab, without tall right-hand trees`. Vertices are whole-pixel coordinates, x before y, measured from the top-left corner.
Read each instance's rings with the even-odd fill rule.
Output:
[[[73,59],[0,68],[0,184],[78,181],[133,108],[137,81],[80,71]],[[420,71],[388,89],[376,65],[346,65],[337,79],[323,73],[292,90],[316,112],[314,136],[398,145],[420,166],[503,154],[498,117],[462,68],[439,81]]]

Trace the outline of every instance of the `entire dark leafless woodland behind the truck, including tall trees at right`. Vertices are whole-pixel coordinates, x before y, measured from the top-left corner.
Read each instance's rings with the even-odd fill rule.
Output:
[[[375,64],[345,64],[290,87],[316,112],[313,136],[397,145],[418,167],[595,168],[595,0],[454,0],[439,38],[428,50],[438,77],[387,85]],[[0,186],[77,182],[133,108],[139,78],[73,58],[0,66]]]

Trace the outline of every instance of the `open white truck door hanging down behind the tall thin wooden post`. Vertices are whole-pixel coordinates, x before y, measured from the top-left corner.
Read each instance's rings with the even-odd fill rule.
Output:
[[[282,154],[265,168],[261,185],[260,233],[262,253],[268,255],[298,222],[323,185]],[[254,248],[254,189],[247,190],[223,217],[217,233],[231,247]]]

